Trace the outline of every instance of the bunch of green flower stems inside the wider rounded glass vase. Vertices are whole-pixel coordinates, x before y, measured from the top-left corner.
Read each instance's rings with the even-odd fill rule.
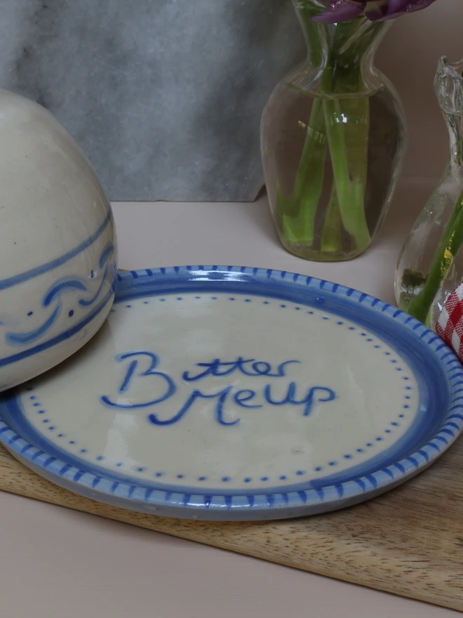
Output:
[[[311,63],[321,67],[330,37],[311,20],[318,10],[309,3],[300,8]],[[341,250],[341,229],[354,249],[370,244],[365,218],[365,184],[368,165],[369,100],[364,91],[362,62],[378,29],[368,21],[338,24],[330,42],[328,62],[321,78],[321,96],[314,98],[291,195],[278,189],[276,220],[291,244],[314,246],[316,214],[323,192],[326,147],[330,151],[334,188],[325,216],[321,242],[330,251]],[[334,193],[333,193],[334,191]],[[334,225],[338,226],[335,231]],[[322,249],[323,251],[323,249]]]

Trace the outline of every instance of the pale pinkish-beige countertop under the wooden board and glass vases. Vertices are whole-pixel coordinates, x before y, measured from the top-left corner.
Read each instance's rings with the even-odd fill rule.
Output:
[[[380,237],[347,263],[302,261],[255,204],[114,204],[125,269],[234,264],[301,272],[394,303],[403,238],[435,180],[401,184]],[[0,493],[2,618],[446,618],[440,607]]]

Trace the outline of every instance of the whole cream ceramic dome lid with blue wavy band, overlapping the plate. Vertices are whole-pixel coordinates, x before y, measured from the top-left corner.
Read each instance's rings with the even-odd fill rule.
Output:
[[[0,391],[79,350],[114,299],[111,207],[74,139],[0,90]]]

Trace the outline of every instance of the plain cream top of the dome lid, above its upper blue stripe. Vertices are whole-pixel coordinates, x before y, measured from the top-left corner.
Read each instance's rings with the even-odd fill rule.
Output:
[[[4,278],[84,242],[109,204],[79,146],[41,105],[0,91],[0,143]]]

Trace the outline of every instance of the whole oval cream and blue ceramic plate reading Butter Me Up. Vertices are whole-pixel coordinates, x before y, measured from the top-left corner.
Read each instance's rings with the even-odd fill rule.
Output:
[[[119,275],[100,334],[0,402],[0,440],[58,485],[221,520],[331,511],[429,466],[463,426],[463,372],[391,305],[292,273]]]

